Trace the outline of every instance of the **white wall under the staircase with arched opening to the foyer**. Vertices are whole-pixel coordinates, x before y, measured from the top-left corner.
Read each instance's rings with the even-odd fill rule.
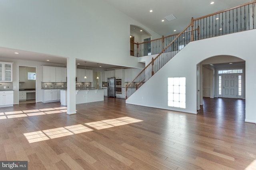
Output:
[[[126,103],[196,113],[196,65],[209,57],[231,55],[246,61],[245,121],[256,123],[255,35],[256,29],[189,43],[130,96]],[[244,43],[243,39],[246,39],[247,43]],[[186,109],[168,107],[168,77],[186,77]]]

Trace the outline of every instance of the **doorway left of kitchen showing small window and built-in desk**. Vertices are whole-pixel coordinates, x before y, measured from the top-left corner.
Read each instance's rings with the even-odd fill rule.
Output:
[[[19,94],[18,104],[35,103],[36,101],[36,67],[18,66]]]

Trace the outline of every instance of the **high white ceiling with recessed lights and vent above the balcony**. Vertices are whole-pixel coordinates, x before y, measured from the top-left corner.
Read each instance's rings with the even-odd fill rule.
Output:
[[[159,35],[180,33],[191,21],[214,12],[238,6],[250,0],[105,0],[124,14],[139,21]],[[214,4],[210,4],[214,2]],[[149,12],[153,10],[153,12]],[[164,21],[174,14],[177,19]],[[173,30],[177,31],[174,32]]]

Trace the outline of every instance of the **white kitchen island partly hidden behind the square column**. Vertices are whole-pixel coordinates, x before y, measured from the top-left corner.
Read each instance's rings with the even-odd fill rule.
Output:
[[[76,104],[104,101],[104,89],[76,89]],[[67,106],[67,90],[60,90],[60,103]]]

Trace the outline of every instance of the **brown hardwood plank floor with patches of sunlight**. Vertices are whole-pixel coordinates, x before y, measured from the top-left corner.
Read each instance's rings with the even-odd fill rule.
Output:
[[[233,107],[233,105],[235,107]],[[0,160],[29,170],[256,169],[256,125],[244,100],[204,98],[197,115],[125,104],[124,99],[0,108]]]

